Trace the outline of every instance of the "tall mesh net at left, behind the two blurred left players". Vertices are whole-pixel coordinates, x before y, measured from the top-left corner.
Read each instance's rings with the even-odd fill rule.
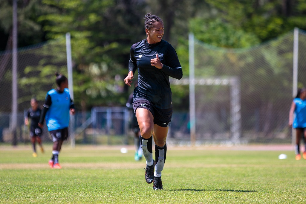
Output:
[[[0,52],[0,141],[29,141],[28,127],[24,126],[24,114],[30,108],[30,100],[35,97],[42,108],[48,90],[55,88],[55,72],[67,76],[65,38],[50,40],[18,49],[17,86],[12,93],[12,52]],[[17,138],[13,138],[11,124],[12,95],[18,97]],[[43,140],[50,140],[47,129],[43,130]]]

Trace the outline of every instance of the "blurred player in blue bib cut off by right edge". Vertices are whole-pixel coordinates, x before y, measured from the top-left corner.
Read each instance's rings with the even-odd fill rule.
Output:
[[[295,159],[300,160],[300,140],[304,135],[305,151],[303,158],[306,159],[306,89],[298,89],[297,96],[291,103],[289,111],[289,127],[296,129],[296,143],[295,143]]]

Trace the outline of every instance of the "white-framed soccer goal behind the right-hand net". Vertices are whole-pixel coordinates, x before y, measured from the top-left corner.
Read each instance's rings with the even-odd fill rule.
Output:
[[[189,85],[189,128],[192,145],[201,140],[228,144],[240,142],[240,82],[237,77],[191,77],[181,80],[170,79],[170,83]],[[207,86],[215,86],[216,89],[207,89]],[[209,99],[212,91],[215,91],[215,102]],[[220,105],[220,101],[224,100],[229,103],[226,106]]]

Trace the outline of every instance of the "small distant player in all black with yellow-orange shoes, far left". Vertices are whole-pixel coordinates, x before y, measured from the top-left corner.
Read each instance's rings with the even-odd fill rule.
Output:
[[[41,134],[43,130],[38,126],[41,109],[38,108],[38,103],[35,98],[31,99],[31,108],[28,109],[27,115],[24,117],[24,124],[28,125],[30,123],[30,138],[33,148],[33,157],[37,157],[36,153],[36,142],[40,147],[40,151],[43,153],[43,145],[41,141]],[[31,121],[29,121],[29,119]]]

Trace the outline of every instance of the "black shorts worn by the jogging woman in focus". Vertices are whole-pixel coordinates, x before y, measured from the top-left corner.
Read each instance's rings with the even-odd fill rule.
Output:
[[[134,108],[134,113],[136,113],[137,108],[145,108],[149,110],[154,118],[153,123],[157,124],[160,127],[168,127],[171,122],[172,108],[168,109],[155,108],[155,106],[150,101],[144,98],[137,98],[133,100],[133,108]]]

